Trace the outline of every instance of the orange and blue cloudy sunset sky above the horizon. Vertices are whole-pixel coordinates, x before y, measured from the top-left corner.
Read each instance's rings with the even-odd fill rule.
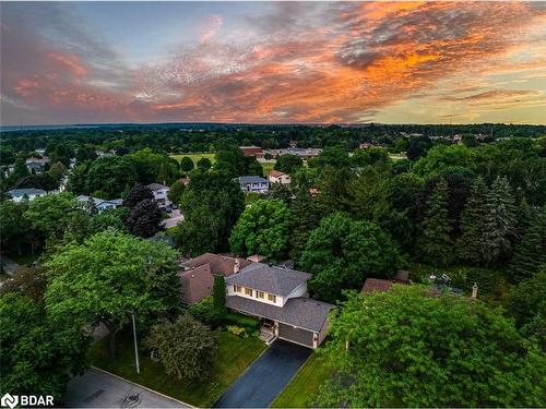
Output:
[[[546,123],[546,2],[0,11],[2,124]]]

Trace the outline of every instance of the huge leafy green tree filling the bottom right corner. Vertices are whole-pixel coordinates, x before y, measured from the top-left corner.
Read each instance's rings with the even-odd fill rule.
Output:
[[[546,358],[479,300],[418,286],[352,294],[330,335],[336,376],[318,407],[544,406]]]

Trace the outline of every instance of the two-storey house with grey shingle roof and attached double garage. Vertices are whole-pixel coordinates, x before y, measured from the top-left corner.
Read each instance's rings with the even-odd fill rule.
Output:
[[[226,305],[261,318],[261,338],[285,339],[317,348],[328,333],[328,315],[334,308],[309,298],[308,273],[252,263],[226,278]]]

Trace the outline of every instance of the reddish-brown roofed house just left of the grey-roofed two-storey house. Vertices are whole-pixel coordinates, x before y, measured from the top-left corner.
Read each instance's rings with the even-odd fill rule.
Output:
[[[204,253],[180,264],[182,270],[178,272],[178,276],[182,286],[182,301],[187,304],[201,301],[212,294],[214,275],[229,277],[250,264],[245,258],[213,253]]]

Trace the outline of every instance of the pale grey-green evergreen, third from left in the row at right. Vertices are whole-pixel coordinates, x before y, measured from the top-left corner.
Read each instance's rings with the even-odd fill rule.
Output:
[[[483,254],[484,261],[492,264],[511,250],[511,237],[515,229],[514,196],[506,178],[497,178],[492,182],[486,204]]]

